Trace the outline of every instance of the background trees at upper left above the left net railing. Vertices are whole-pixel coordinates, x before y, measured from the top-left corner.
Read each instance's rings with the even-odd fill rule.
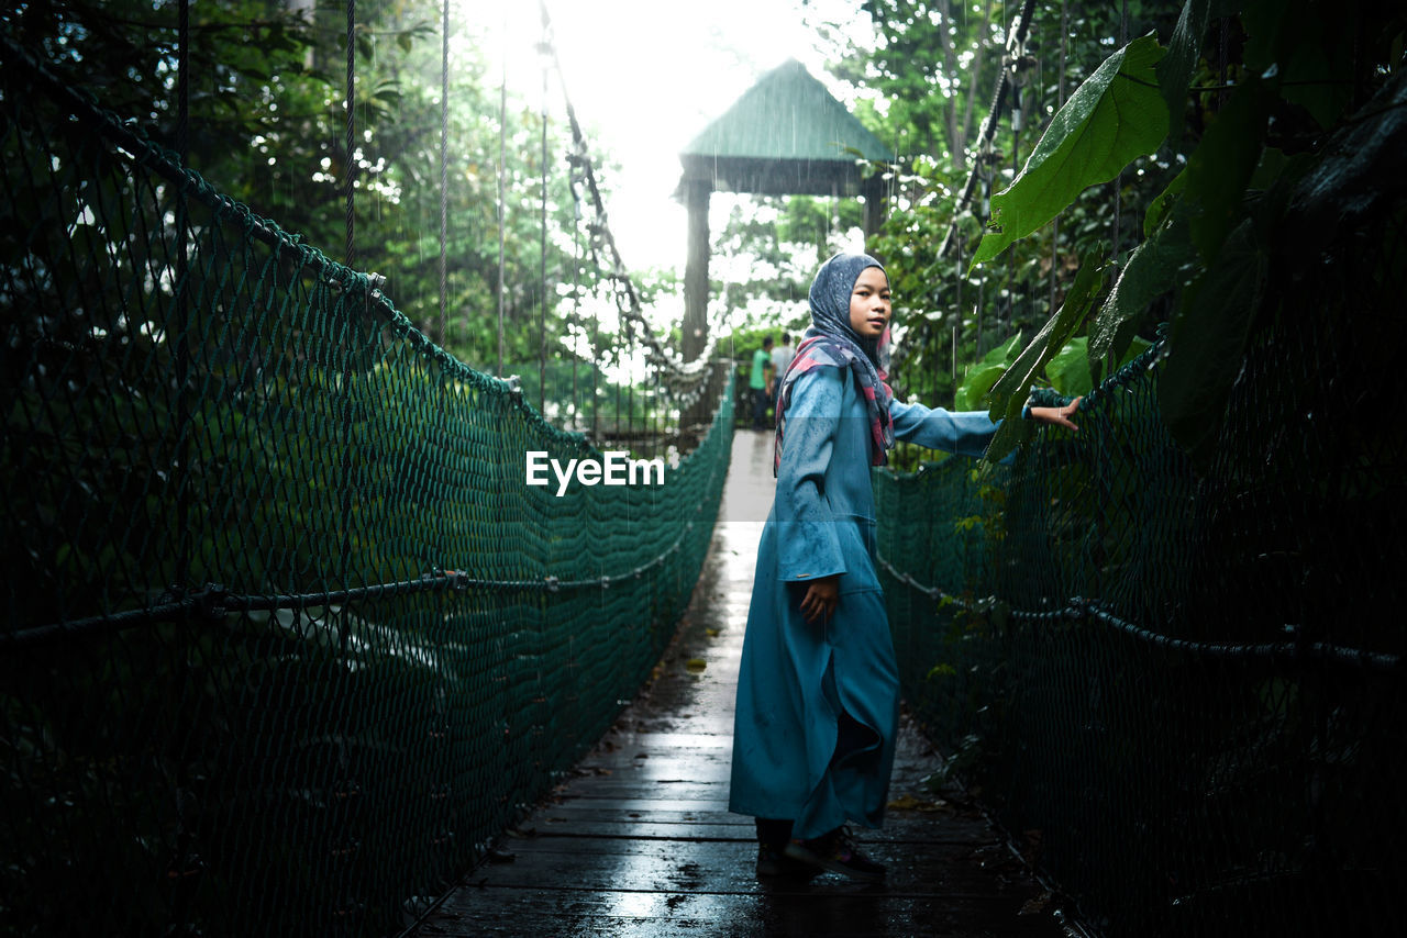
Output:
[[[190,24],[189,165],[235,201],[276,219],[304,243],[357,270],[387,277],[387,293],[426,335],[459,359],[497,370],[498,150],[502,174],[504,359],[536,363],[542,335],[564,332],[575,281],[598,290],[575,231],[564,159],[566,128],[499,94],[480,52],[485,27],[456,25],[449,60],[450,146],[440,184],[440,4],[405,0],[356,11],[356,139],[346,149],[346,13],[311,13],[267,0],[193,4]],[[13,39],[104,108],[135,120],[174,149],[177,7],[149,0],[39,0],[0,13]],[[546,239],[542,183],[547,181]],[[353,194],[352,257],[346,257],[348,193]],[[440,273],[440,211],[447,218]],[[543,259],[543,249],[546,257]],[[578,259],[578,255],[581,257]],[[545,260],[545,263],[543,263]],[[545,276],[543,276],[545,274]],[[443,312],[440,294],[445,294]]]

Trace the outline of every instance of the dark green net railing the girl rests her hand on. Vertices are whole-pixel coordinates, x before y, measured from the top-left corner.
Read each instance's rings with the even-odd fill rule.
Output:
[[[1382,271],[1303,301],[1383,308]],[[1107,935],[1384,934],[1407,886],[1407,437],[1363,406],[1401,328],[1285,312],[1209,465],[1154,346],[1078,436],[877,474],[908,698]]]

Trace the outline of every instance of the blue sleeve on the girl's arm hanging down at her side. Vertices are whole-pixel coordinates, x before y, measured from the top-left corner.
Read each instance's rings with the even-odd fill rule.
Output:
[[[777,470],[777,577],[809,581],[846,572],[836,518],[826,498],[826,470],[840,426],[840,371],[817,367],[792,385]]]

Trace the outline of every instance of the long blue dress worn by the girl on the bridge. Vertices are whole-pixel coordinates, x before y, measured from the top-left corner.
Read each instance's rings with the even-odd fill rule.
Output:
[[[964,456],[981,456],[996,430],[982,412],[898,401],[889,412],[895,439]],[[743,638],[729,809],[791,818],[798,838],[879,827],[888,800],[899,674],[875,572],[871,446],[848,368],[796,380]],[[809,623],[808,582],[832,574],[840,603]]]

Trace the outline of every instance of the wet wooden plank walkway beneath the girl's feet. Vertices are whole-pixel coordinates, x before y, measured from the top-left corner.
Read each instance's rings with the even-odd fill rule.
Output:
[[[727,811],[733,696],[771,435],[739,430],[725,503],[678,638],[594,752],[412,932],[480,935],[950,935],[1057,938],[1058,903],[937,766],[908,723],[882,831],[855,830],[889,868],[879,886],[833,873],[758,883],[751,818]]]

